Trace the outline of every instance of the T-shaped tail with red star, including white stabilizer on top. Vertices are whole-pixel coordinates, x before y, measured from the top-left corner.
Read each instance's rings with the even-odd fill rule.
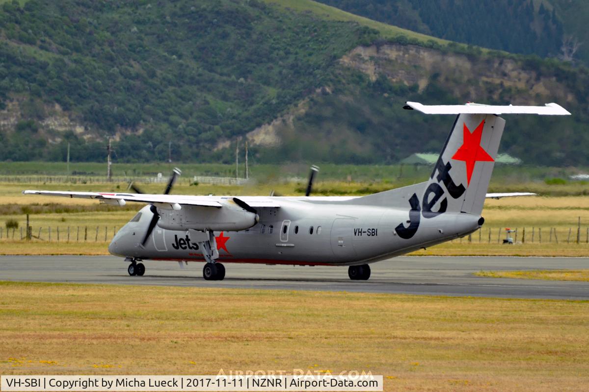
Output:
[[[423,194],[424,217],[446,211],[481,214],[505,127],[505,120],[498,114],[570,114],[555,103],[546,106],[407,104],[406,109],[428,114],[458,114]]]

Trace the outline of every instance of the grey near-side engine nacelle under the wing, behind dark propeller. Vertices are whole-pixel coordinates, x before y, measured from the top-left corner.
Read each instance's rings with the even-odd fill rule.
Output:
[[[259,216],[227,200],[223,207],[183,205],[180,210],[160,210],[157,225],[166,230],[237,231],[256,225]]]

